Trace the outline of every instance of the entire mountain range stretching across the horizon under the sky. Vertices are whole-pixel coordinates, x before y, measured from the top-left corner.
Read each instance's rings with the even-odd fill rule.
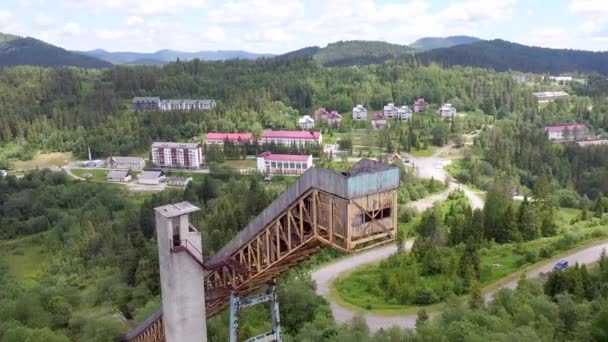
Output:
[[[113,64],[165,64],[177,59],[227,60],[257,58],[312,58],[324,66],[383,63],[387,60],[464,65],[497,71],[533,73],[601,73],[608,75],[608,52],[548,49],[516,44],[500,39],[482,40],[469,36],[427,37],[410,45],[381,41],[338,41],[326,47],[305,47],[283,55],[247,51],[184,52],[160,50],[154,53],[68,51],[31,37],[0,33],[0,67],[14,65],[75,66],[106,68]]]

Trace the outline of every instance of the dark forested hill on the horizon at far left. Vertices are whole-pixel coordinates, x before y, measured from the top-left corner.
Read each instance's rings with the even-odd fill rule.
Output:
[[[45,43],[31,37],[0,33],[0,67],[15,65],[75,66],[106,68],[112,64]]]

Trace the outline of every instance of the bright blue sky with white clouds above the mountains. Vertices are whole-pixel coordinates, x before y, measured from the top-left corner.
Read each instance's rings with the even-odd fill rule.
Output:
[[[282,53],[466,34],[608,50],[608,0],[2,0],[0,32],[67,49]]]

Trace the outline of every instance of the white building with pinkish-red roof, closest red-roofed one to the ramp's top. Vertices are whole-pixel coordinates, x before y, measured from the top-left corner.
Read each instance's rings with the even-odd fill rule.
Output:
[[[257,158],[258,172],[264,174],[302,174],[312,167],[312,155],[262,152]]]

